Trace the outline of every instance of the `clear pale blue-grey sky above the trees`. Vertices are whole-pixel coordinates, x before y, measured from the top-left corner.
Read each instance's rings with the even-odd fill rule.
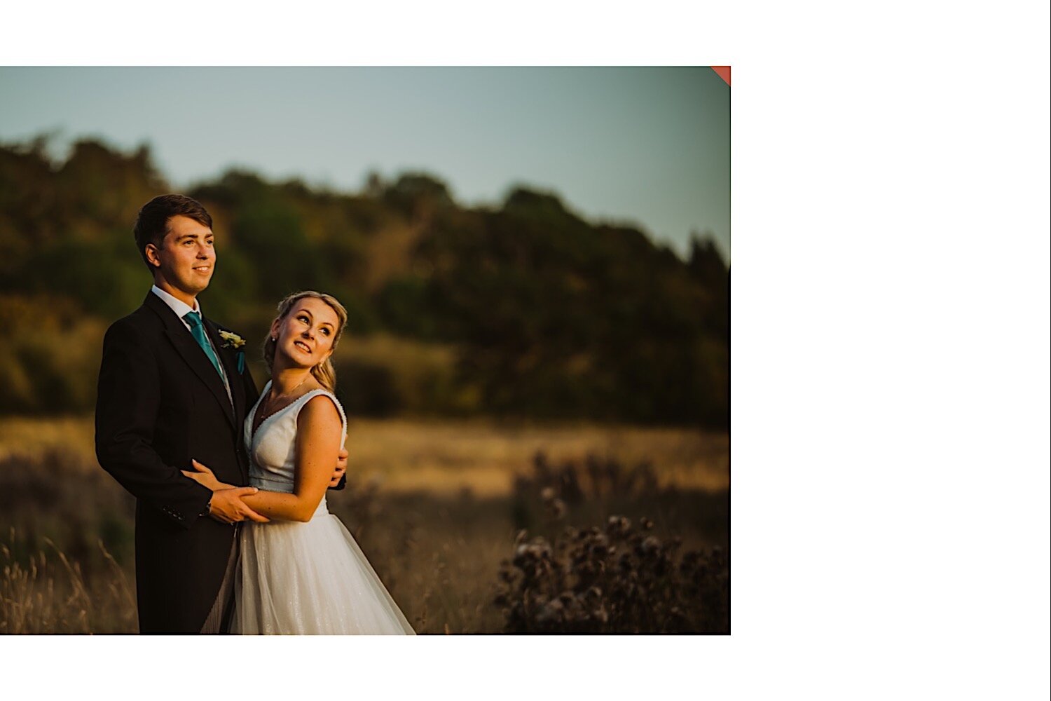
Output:
[[[709,231],[728,260],[729,89],[707,67],[4,67],[0,141],[146,142],[177,188],[411,169],[475,205],[521,183],[680,252]]]

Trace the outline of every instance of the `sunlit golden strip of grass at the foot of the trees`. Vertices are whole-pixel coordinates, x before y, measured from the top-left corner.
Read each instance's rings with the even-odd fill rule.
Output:
[[[95,465],[90,416],[0,419],[0,458],[55,449]],[[350,470],[383,492],[503,496],[544,451],[553,462],[589,453],[626,465],[651,460],[661,486],[708,492],[729,487],[729,436],[687,429],[602,425],[511,425],[487,419],[355,419]]]

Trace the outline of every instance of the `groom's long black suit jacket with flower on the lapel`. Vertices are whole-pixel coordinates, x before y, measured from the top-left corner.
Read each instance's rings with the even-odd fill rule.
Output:
[[[215,601],[235,529],[199,514],[211,492],[180,470],[190,459],[248,483],[245,414],[259,392],[238,352],[205,328],[215,368],[182,319],[152,292],[106,332],[95,412],[99,463],[137,498],[136,589],[143,633],[197,633]]]

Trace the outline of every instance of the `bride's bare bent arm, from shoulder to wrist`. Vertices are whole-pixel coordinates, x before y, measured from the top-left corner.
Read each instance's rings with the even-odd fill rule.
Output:
[[[260,491],[243,497],[252,510],[290,521],[309,521],[332,478],[332,466],[343,447],[343,419],[332,400],[322,394],[300,411],[295,433],[295,491]]]

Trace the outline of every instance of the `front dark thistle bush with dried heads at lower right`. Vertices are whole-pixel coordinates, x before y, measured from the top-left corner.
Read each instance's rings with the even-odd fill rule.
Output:
[[[679,554],[681,538],[651,535],[613,515],[605,528],[565,528],[516,540],[494,603],[506,633],[729,633],[729,560],[719,547]]]

